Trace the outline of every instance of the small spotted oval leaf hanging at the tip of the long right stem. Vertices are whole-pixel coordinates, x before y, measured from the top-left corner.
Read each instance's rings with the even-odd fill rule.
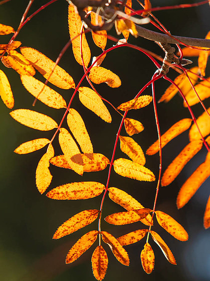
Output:
[[[143,250],[140,253],[140,260],[143,270],[150,274],[154,268],[154,252],[149,243],[144,244]]]

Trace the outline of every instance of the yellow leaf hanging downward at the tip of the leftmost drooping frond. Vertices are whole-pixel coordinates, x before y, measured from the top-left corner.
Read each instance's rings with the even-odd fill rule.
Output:
[[[35,183],[38,191],[42,194],[50,185],[52,176],[49,172],[49,159],[54,156],[52,145],[48,146],[46,153],[41,157],[35,172]]]

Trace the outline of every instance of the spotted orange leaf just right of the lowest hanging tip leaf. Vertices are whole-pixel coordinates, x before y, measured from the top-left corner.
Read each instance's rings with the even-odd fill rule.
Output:
[[[101,231],[101,234],[103,241],[109,245],[115,258],[123,265],[129,266],[128,254],[116,238],[106,231]]]

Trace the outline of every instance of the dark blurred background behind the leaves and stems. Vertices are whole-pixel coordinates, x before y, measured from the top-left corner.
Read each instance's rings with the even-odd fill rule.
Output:
[[[193,0],[152,0],[153,7],[195,3]],[[40,6],[47,3],[46,0],[35,0],[29,14],[32,14]],[[11,0],[4,5],[0,5],[0,23],[9,25],[17,29],[22,14],[28,4],[27,0]],[[134,1],[133,1],[134,5]],[[56,60],[60,50],[69,40],[67,26],[67,2],[58,0],[50,5],[28,22],[20,31],[16,40],[22,42],[22,46],[33,47],[47,57]],[[133,6],[140,9],[139,5]],[[172,35],[204,38],[209,31],[209,5],[196,8],[178,9],[155,12],[154,15],[166,26]],[[149,29],[155,30],[150,24]],[[110,34],[118,39],[114,29]],[[91,35],[87,34],[87,40],[91,49],[92,56],[100,54],[100,49],[93,44]],[[0,44],[8,43],[10,35],[0,36]],[[135,39],[130,35],[128,43],[135,44],[148,49],[157,55],[163,56],[163,52],[152,41],[142,38]],[[107,48],[113,43],[108,41]],[[197,59],[192,58],[193,65],[197,64]],[[59,65],[64,68],[77,83],[83,70],[76,63],[69,48],[62,57]],[[155,69],[153,63],[147,57],[136,50],[129,48],[119,48],[107,54],[102,66],[116,73],[122,85],[117,89],[109,88],[106,84],[97,85],[99,93],[111,101],[114,106],[132,99],[139,89],[151,79]],[[28,108],[54,118],[57,122],[61,119],[63,110],[49,108],[37,101],[32,107],[33,97],[22,86],[19,75],[12,69],[0,66],[7,75],[15,99],[13,109]],[[210,74],[209,64],[206,77]],[[168,76],[172,79],[177,76],[175,71],[170,70]],[[38,73],[37,79],[44,81]],[[87,85],[84,81],[83,86]],[[163,94],[169,86],[165,80],[155,83],[156,99]],[[69,101],[73,90],[62,90],[53,87]],[[151,94],[148,87],[145,94]],[[209,100],[204,101],[206,107]],[[102,153],[107,158],[111,158],[115,135],[120,123],[120,116],[107,105],[112,123],[107,124],[91,111],[86,109],[75,97],[72,107],[78,110],[84,119],[87,131],[93,144],[94,152]],[[168,104],[157,105],[160,130],[164,132],[174,122],[181,118],[190,117],[186,108],[182,106],[182,100],[177,95]],[[202,112],[200,105],[194,105],[195,116]],[[51,138],[52,131],[38,131],[19,124],[8,114],[10,110],[0,102],[0,280],[5,281],[69,281],[69,280],[94,280],[91,270],[91,255],[96,247],[95,244],[85,252],[77,261],[72,264],[65,264],[65,256],[69,248],[84,233],[97,229],[97,220],[71,235],[59,240],[52,240],[52,235],[59,225],[74,214],[85,209],[98,209],[101,196],[89,200],[57,201],[51,200],[40,195],[35,186],[35,169],[39,159],[45,153],[45,148],[28,155],[16,155],[13,150],[20,144],[34,138]],[[157,139],[155,119],[152,104],[141,110],[133,110],[127,115],[143,123],[145,129],[133,139],[141,146],[143,151]],[[124,128],[121,132],[126,135]],[[187,132],[176,137],[163,149],[163,171],[167,165],[176,157],[182,148],[188,143]],[[55,154],[61,153],[57,139],[54,141]],[[209,180],[196,192],[189,203],[180,210],[175,205],[176,196],[179,188],[187,177],[205,159],[206,151],[203,148],[196,155],[177,179],[168,187],[160,188],[157,210],[168,213],[179,223],[181,223],[189,234],[187,242],[180,242],[170,236],[166,231],[160,229],[155,223],[154,230],[157,231],[173,252],[177,265],[174,266],[164,258],[159,247],[150,238],[155,254],[155,267],[150,275],[147,275],[140,264],[140,252],[145,240],[141,240],[133,245],[126,246],[130,257],[130,266],[121,265],[112,255],[107,245],[104,245],[108,253],[109,264],[105,280],[125,281],[131,278],[138,280],[179,280],[179,281],[207,281],[210,279],[210,236],[209,229],[204,230],[202,225],[205,204],[209,195]],[[125,157],[117,148],[116,158]],[[126,158],[126,157],[125,157]],[[146,157],[146,167],[158,176],[158,156]],[[65,183],[76,181],[98,181],[106,183],[106,168],[104,171],[96,173],[86,173],[81,178],[72,171],[52,167],[50,172],[53,179],[48,190]],[[143,183],[111,173],[110,187],[114,186],[122,189],[137,199],[147,208],[153,207],[155,196],[155,183]],[[113,212],[120,212],[123,209],[117,206],[108,196],[104,202],[103,218]],[[125,226],[112,226],[102,221],[102,230],[110,232],[115,237],[121,236],[132,230],[142,228],[138,223]]]

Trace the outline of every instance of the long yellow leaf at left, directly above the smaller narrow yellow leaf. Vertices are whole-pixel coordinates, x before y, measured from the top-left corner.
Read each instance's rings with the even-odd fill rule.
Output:
[[[58,126],[51,117],[29,109],[16,109],[9,114],[17,122],[36,130],[48,131]]]

